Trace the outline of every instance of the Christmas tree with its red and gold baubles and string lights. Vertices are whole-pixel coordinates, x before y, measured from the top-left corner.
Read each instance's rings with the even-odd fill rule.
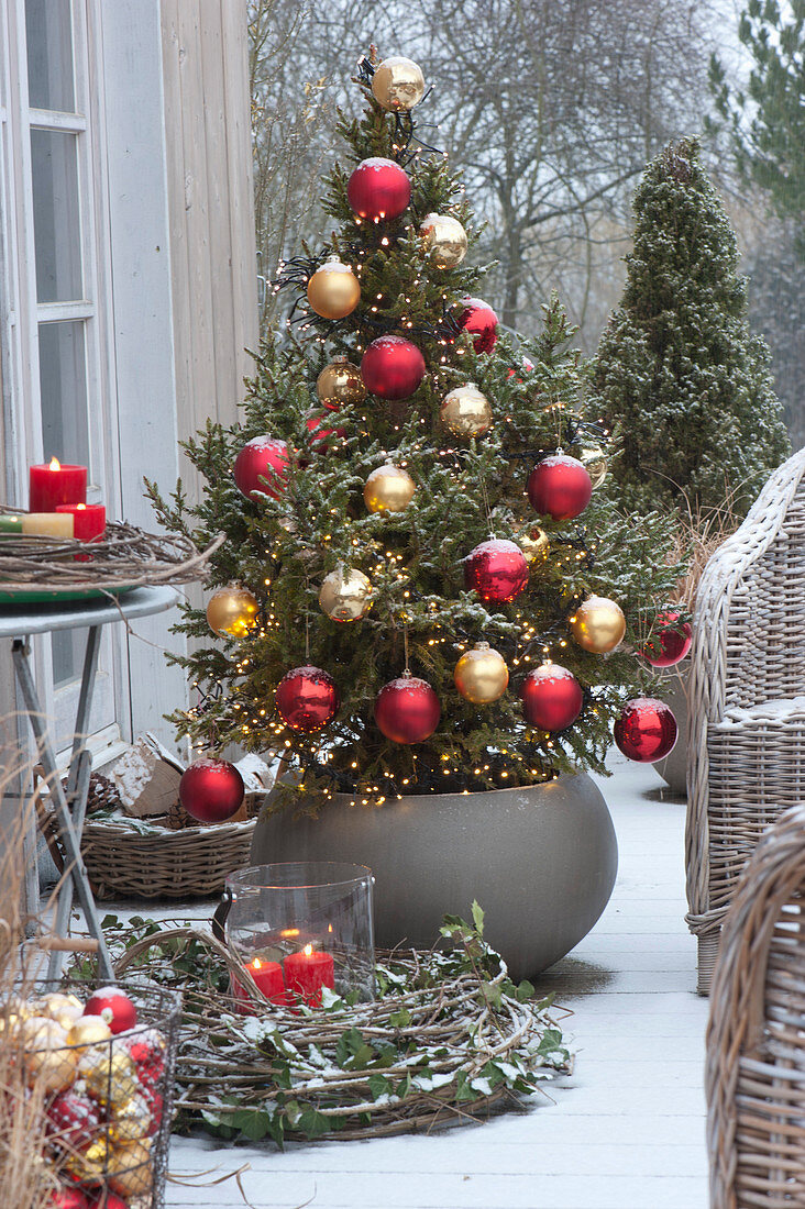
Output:
[[[282,267],[297,313],[240,422],[186,445],[203,499],[149,485],[168,527],[226,534],[178,626],[200,700],[174,721],[211,751],[280,750],[305,805],[600,769],[650,682],[633,648],[668,624],[669,522],[592,491],[605,433],[558,301],[519,342],[472,296],[472,214],[418,139],[416,65],[361,75],[337,230]]]

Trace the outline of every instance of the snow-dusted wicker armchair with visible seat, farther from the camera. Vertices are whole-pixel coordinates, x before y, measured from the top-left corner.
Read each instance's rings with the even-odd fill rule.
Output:
[[[805,802],[804,479],[800,450],[711,559],[696,600],[685,863],[703,995],[747,858]]]

